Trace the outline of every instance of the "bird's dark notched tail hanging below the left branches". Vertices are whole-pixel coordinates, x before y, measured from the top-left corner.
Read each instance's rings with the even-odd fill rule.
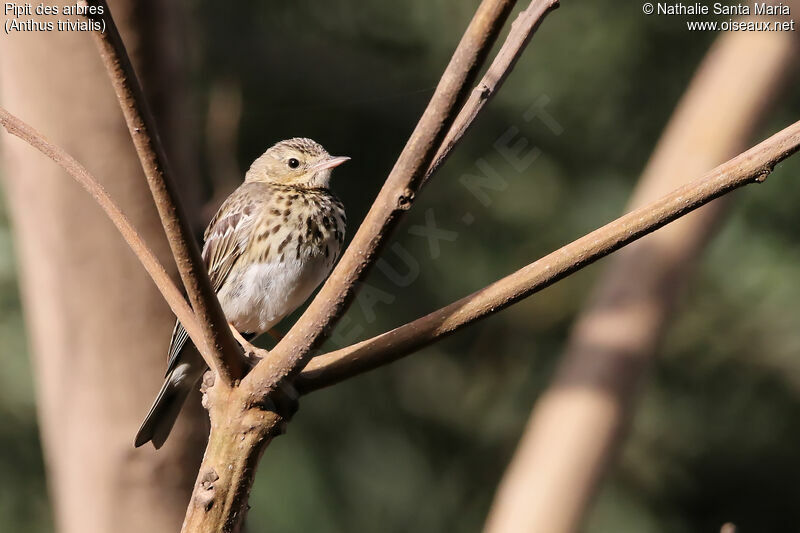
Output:
[[[175,425],[183,403],[203,375],[202,366],[199,372],[198,369],[192,369],[192,366],[197,365],[179,364],[167,374],[156,401],[153,402],[150,412],[147,413],[142,427],[136,434],[134,445],[137,448],[148,441],[153,441],[156,449],[163,446],[172,431],[172,426]]]

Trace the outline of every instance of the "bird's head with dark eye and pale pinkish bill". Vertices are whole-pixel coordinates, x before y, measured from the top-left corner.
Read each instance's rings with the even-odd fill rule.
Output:
[[[311,139],[295,137],[275,144],[253,161],[245,181],[327,188],[331,170],[348,159],[330,155]]]

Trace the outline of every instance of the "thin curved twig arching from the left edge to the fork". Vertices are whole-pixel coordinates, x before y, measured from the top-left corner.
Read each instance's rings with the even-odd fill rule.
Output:
[[[156,287],[158,287],[158,290],[161,292],[162,296],[164,296],[167,304],[169,304],[170,309],[172,309],[172,312],[175,313],[175,316],[178,317],[186,328],[189,337],[198,346],[202,346],[202,330],[189,304],[184,299],[178,287],[175,286],[175,283],[173,283],[172,278],[167,274],[164,266],[147,246],[142,236],[136,231],[136,228],[133,227],[128,217],[126,217],[119,206],[114,203],[114,200],[111,199],[97,179],[71,155],[52,144],[33,127],[2,107],[0,107],[0,125],[11,135],[19,137],[55,161],[61,168],[66,170],[70,176],[75,178],[75,181],[94,198],[122,234],[125,242],[128,243],[133,253],[136,254],[136,257],[142,263],[145,270],[147,270],[147,273],[150,274]]]

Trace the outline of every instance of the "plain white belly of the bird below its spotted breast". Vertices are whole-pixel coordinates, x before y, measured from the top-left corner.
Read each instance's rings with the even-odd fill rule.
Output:
[[[261,334],[297,309],[330,272],[322,257],[254,263],[238,271],[219,292],[228,322],[243,333]]]

